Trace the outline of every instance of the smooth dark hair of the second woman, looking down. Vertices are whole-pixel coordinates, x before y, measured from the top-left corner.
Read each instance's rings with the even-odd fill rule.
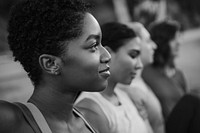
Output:
[[[131,28],[118,22],[105,23],[101,25],[101,30],[102,45],[110,47],[114,52],[123,46],[126,40],[136,37]]]

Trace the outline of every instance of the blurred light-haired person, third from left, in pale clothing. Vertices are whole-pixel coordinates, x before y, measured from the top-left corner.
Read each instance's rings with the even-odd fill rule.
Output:
[[[141,23],[129,22],[127,26],[132,28],[140,37],[141,61],[144,66],[149,65],[153,62],[156,44],[151,40],[149,32]],[[119,84],[118,86],[130,96],[142,118],[149,120],[154,133],[164,133],[165,123],[160,102],[151,88],[142,79],[141,72],[138,73],[130,85]]]

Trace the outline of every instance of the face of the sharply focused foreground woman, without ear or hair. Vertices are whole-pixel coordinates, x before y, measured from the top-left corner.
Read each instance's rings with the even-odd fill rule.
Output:
[[[110,76],[110,54],[101,45],[101,29],[96,19],[85,15],[82,34],[66,45],[62,80],[70,91],[102,91]]]

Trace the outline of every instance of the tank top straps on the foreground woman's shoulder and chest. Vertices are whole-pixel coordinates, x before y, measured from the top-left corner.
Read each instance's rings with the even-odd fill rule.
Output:
[[[52,133],[44,116],[34,104],[15,103],[15,105],[17,105],[20,108],[25,119],[28,121],[35,133]],[[86,127],[91,133],[96,133],[95,130],[89,125],[89,123],[85,120],[83,115],[76,108],[73,108],[73,113],[83,120]]]

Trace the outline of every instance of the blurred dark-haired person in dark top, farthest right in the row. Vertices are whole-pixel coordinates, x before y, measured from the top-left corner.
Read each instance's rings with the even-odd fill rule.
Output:
[[[183,72],[175,65],[178,56],[180,25],[171,20],[153,23],[149,28],[157,44],[152,64],[144,67],[142,76],[160,100],[164,119],[187,92]]]

